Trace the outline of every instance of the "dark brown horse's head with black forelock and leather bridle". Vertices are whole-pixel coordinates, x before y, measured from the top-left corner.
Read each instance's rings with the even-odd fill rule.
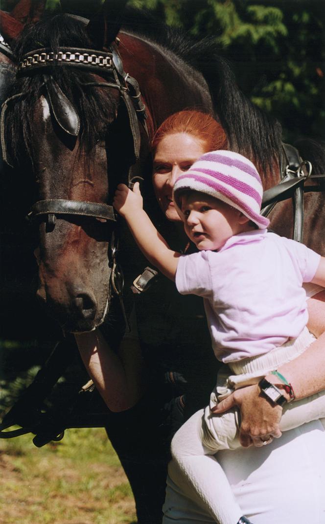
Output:
[[[67,332],[104,320],[115,252],[110,203],[140,152],[117,48],[93,47],[84,22],[67,15],[23,31],[6,103],[7,161],[28,164],[36,181],[29,217],[39,232],[37,294]]]

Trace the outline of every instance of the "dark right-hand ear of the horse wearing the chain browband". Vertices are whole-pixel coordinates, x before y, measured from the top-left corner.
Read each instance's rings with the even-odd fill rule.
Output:
[[[122,25],[127,0],[105,0],[102,8],[89,21],[87,32],[95,49],[110,46]]]

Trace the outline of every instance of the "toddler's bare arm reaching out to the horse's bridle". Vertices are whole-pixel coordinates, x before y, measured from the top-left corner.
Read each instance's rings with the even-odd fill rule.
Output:
[[[175,280],[180,253],[169,248],[144,211],[139,183],[134,184],[133,191],[125,184],[118,184],[113,205],[126,220],[129,230],[145,257],[166,277]]]

